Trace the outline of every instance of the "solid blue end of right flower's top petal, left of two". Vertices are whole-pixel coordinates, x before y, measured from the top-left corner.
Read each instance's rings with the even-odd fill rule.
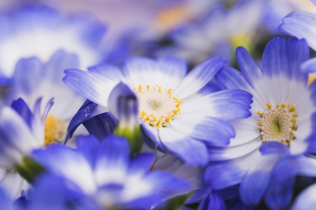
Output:
[[[288,76],[289,68],[286,40],[284,37],[275,37],[267,44],[262,55],[262,75],[268,77]]]

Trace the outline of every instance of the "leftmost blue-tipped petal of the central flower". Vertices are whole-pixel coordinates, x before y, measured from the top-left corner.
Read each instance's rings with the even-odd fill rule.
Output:
[[[101,78],[75,68],[66,69],[65,74],[63,80],[69,87],[97,104],[108,105],[108,98],[112,89],[104,84]]]

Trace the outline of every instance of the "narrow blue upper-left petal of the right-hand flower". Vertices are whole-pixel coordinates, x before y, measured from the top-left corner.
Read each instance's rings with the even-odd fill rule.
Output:
[[[236,59],[245,80],[253,87],[253,83],[262,78],[259,67],[244,47],[236,49]]]

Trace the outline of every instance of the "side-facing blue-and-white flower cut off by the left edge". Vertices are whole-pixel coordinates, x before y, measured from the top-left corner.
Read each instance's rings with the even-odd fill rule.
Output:
[[[26,158],[32,150],[44,146],[44,121],[52,105],[50,100],[44,111],[40,110],[41,99],[30,111],[22,99],[0,109],[0,185],[7,189],[12,198],[19,196],[24,180],[17,173],[23,173],[30,181],[36,173],[29,169]],[[29,161],[29,160],[27,160]]]

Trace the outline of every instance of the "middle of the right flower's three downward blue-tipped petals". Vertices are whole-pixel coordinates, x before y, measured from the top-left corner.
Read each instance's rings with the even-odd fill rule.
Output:
[[[278,155],[265,155],[251,165],[239,188],[244,203],[257,205],[260,202],[270,183],[271,170],[279,158]]]

